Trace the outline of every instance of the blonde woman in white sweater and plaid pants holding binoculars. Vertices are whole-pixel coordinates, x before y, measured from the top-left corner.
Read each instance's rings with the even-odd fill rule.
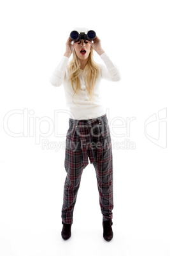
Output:
[[[87,28],[75,28],[85,32]],[[94,62],[94,50],[104,64]],[[68,63],[73,53],[73,59]],[[66,52],[50,77],[53,86],[64,85],[66,103],[71,117],[66,135],[66,154],[64,166],[66,181],[62,205],[62,238],[69,239],[73,224],[73,210],[76,203],[81,174],[89,164],[96,170],[99,204],[103,214],[103,237],[106,241],[113,238],[111,228],[113,210],[113,162],[110,129],[106,111],[101,102],[99,85],[101,79],[117,82],[120,74],[101,46],[96,36],[94,41],[83,39],[66,42]],[[75,100],[76,99],[76,100]]]

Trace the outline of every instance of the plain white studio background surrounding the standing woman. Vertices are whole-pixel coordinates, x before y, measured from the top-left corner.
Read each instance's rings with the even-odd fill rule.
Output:
[[[170,255],[168,1],[16,0],[0,7],[1,255]],[[49,78],[74,27],[96,31],[122,75],[117,83],[101,81],[113,141],[110,243],[103,239],[90,164],[72,236],[64,241],[60,235],[69,115],[63,87]]]

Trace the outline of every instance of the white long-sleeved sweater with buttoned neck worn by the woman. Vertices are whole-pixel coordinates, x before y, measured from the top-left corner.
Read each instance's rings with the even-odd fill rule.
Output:
[[[113,62],[110,60],[106,52],[100,55],[101,59],[103,60],[104,64],[97,63],[99,66],[101,66],[101,73],[98,76],[96,80],[95,90],[94,90],[94,101],[93,103],[90,103],[90,96],[87,92],[86,87],[83,83],[83,71],[81,70],[81,74],[79,76],[80,78],[80,85],[82,90],[80,90],[80,94],[78,96],[78,99],[76,99],[76,94],[74,94],[74,90],[71,85],[71,81],[67,82],[69,79],[69,73],[67,69],[67,63],[69,58],[66,56],[63,56],[60,60],[57,68],[52,73],[52,76],[50,76],[50,83],[55,86],[59,87],[60,85],[64,85],[64,91],[66,95],[66,105],[69,108],[69,111],[71,113],[71,118],[76,120],[83,120],[83,119],[91,119],[91,118],[97,118],[101,117],[101,115],[104,115],[106,111],[104,110],[101,95],[100,95],[100,82],[101,79],[104,78],[111,82],[117,82],[120,80],[120,73],[118,71],[117,66],[113,64]],[[83,90],[84,89],[84,90]],[[72,96],[73,101],[72,101]],[[75,104],[76,103],[76,104]]]

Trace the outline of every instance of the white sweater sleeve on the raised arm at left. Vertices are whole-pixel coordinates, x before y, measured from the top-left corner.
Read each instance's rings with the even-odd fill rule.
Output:
[[[55,68],[52,75],[50,76],[50,83],[53,86],[59,87],[60,85],[62,85],[64,81],[68,60],[69,60],[68,57],[62,56],[62,59],[57,65],[57,68]]]

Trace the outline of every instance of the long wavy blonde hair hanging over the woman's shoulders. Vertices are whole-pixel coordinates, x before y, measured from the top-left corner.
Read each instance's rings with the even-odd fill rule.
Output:
[[[87,85],[87,90],[90,95],[91,103],[94,99],[94,87],[96,85],[96,80],[101,72],[101,67],[99,66],[99,64],[97,64],[94,61],[94,52],[93,51],[94,50],[91,46],[91,50],[90,50],[89,57],[88,57],[89,59],[88,59],[87,65],[85,66],[85,69],[84,69],[85,78],[83,75],[85,85]],[[75,50],[73,49],[73,59],[69,62],[67,68],[68,68],[69,74],[70,74],[69,80],[71,80],[71,85],[73,87],[74,94],[76,94],[76,99],[78,98],[78,95],[80,94],[80,79],[78,78],[78,76],[81,73],[80,66],[81,66],[81,62],[78,59]],[[86,71],[87,71],[87,75],[86,75]],[[69,80],[67,82],[69,82]],[[74,97],[74,94],[73,94],[73,97]],[[72,101],[73,101],[73,97],[72,97]]]

